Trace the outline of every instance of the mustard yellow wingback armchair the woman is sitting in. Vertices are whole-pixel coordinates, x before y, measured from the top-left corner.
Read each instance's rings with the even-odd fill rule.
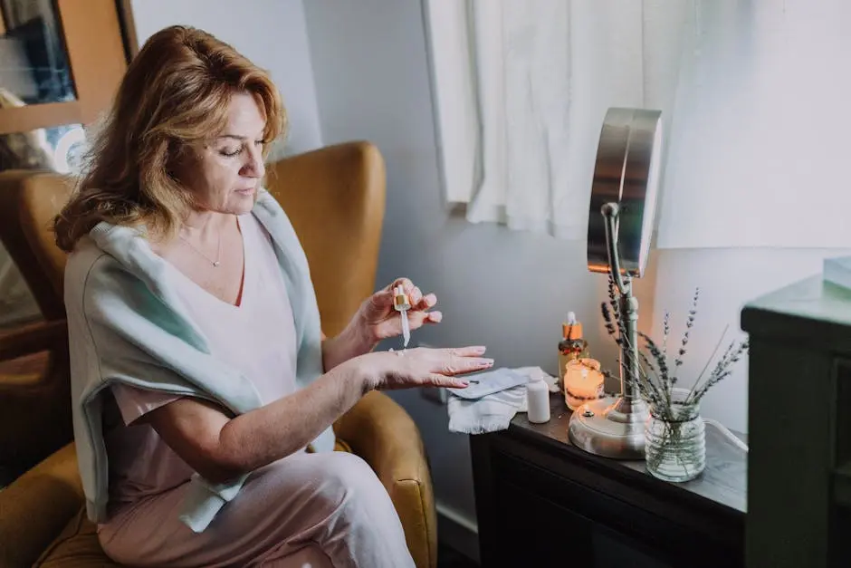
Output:
[[[0,337],[0,361],[21,352],[21,344],[29,346],[30,351],[47,344],[54,350],[53,364],[60,375],[64,370],[65,377],[67,347],[64,353],[58,351],[62,342],[67,346],[62,335],[64,255],[53,245],[48,226],[67,198],[71,183],[70,178],[52,173],[0,173],[0,209],[18,212],[0,217],[0,222],[17,226],[16,236],[4,239],[4,244],[42,307],[47,322],[40,326],[50,328],[38,332],[49,336],[50,341],[39,343],[37,338],[27,341],[18,336],[14,349],[4,347]],[[376,284],[385,199],[384,162],[378,149],[365,142],[352,142],[283,159],[270,168],[267,186],[291,217],[307,254],[323,330],[329,335],[339,332]],[[27,265],[21,265],[22,261]],[[25,330],[20,333],[27,335]],[[55,375],[51,378],[56,380]],[[13,384],[4,387],[0,377],[0,400],[3,397],[28,400],[33,408],[39,404],[43,409],[53,408],[57,397],[66,408],[71,404],[67,390],[62,388],[25,392],[15,390]],[[50,418],[38,412],[16,419],[32,419],[53,428]],[[56,428],[69,428],[65,418],[61,422]],[[0,414],[0,433],[3,428],[5,412]],[[37,442],[39,433],[45,430],[16,431],[29,438],[18,439],[19,447],[23,447]],[[341,417],[334,431],[338,449],[363,457],[387,487],[417,567],[434,568],[434,496],[422,439],[413,420],[386,395],[373,392]],[[70,439],[70,430],[52,436],[38,442],[42,451],[53,451],[59,441]],[[15,449],[14,439],[4,443]],[[73,444],[48,454],[0,491],[0,565],[116,566],[100,550],[95,526],[82,508]],[[33,455],[27,459],[32,461]]]

